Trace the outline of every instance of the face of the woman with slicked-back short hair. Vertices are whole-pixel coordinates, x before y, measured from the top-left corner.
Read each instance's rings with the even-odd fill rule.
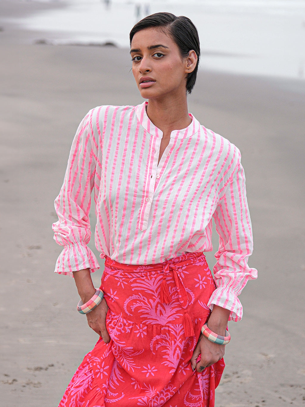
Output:
[[[133,76],[143,98],[186,94],[188,58],[181,57],[169,34],[158,28],[138,31],[133,36],[130,54]]]

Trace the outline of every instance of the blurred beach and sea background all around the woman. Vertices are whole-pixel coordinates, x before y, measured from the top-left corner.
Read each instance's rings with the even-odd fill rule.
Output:
[[[89,109],[142,103],[129,31],[158,11],[196,24],[189,111],[246,173],[259,278],[229,324],[216,406],[305,406],[305,0],[0,0],[1,406],[57,406],[97,340],[73,280],[53,272],[53,202]]]

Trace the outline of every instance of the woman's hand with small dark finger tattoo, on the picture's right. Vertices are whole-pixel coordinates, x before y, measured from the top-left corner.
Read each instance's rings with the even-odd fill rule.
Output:
[[[207,366],[218,362],[224,355],[225,345],[214,344],[209,341],[203,334],[200,334],[196,348],[191,359],[193,370],[202,372]],[[197,363],[198,356],[201,354],[201,359]]]

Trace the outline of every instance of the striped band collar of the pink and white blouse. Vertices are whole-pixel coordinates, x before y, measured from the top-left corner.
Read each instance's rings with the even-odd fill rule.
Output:
[[[144,129],[146,131],[148,131],[148,133],[150,133],[152,136],[162,138],[162,136],[163,136],[162,131],[160,129],[158,129],[158,127],[156,127],[147,116],[147,113],[146,113],[147,104],[148,104],[148,102],[145,101],[141,105],[137,105],[135,107],[137,118],[138,118],[139,122],[141,123],[142,127],[144,127]],[[189,115],[190,115],[190,118],[192,119],[192,123],[185,129],[173,130],[172,133],[170,134],[171,138],[177,138],[177,139],[188,138],[188,137],[193,136],[195,133],[197,133],[200,123],[192,114],[189,113]]]

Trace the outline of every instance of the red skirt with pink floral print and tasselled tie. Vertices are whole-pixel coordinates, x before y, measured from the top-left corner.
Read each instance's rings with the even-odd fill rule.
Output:
[[[215,289],[204,254],[146,266],[106,258],[100,287],[111,341],[85,356],[59,407],[214,407],[223,359],[200,373],[190,363]]]

